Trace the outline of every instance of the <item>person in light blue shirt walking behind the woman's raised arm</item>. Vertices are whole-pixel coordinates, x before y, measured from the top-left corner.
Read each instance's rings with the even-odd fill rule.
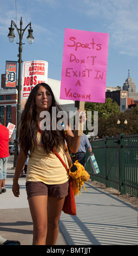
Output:
[[[74,132],[75,132],[75,126],[74,126]],[[83,133],[83,136],[81,136],[81,142],[80,146],[78,148],[77,153],[75,154],[76,159],[78,160],[79,163],[81,163],[83,166],[86,161],[86,150],[88,149],[89,154],[92,154],[92,148],[89,142],[88,137]]]

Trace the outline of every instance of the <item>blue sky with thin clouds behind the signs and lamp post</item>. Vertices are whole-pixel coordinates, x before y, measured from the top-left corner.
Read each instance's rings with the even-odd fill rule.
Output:
[[[137,13],[137,0],[4,0],[0,5],[1,74],[6,60],[18,60],[16,29],[12,44],[7,35],[11,20],[19,28],[22,17],[23,28],[31,21],[35,38],[29,45],[28,31],[24,33],[22,60],[47,60],[49,78],[61,80],[65,28],[109,33],[106,85],[123,86],[129,69],[138,92]]]

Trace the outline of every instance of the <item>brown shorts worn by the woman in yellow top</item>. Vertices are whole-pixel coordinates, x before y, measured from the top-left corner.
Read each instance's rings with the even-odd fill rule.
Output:
[[[69,181],[63,184],[48,185],[41,181],[27,181],[27,196],[49,196],[63,198],[68,195]]]

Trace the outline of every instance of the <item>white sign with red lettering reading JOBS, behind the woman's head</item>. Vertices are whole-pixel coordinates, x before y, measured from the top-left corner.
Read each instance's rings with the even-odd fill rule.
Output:
[[[47,83],[48,62],[44,60],[33,60],[23,62],[22,74],[22,99],[28,99],[31,90],[37,83]]]

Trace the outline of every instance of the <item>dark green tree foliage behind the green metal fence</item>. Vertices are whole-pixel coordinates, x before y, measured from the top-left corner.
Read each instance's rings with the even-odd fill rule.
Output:
[[[112,99],[107,98],[105,103],[86,102],[85,109],[91,111],[91,125],[94,125],[94,111],[98,111],[98,137],[101,135],[115,136],[116,133],[121,133],[121,127],[117,126],[117,120],[120,120],[120,125],[124,126],[124,120],[127,119],[127,129],[123,129],[126,135],[138,133],[138,106],[133,109],[128,109],[124,113],[120,111],[119,106]],[[87,134],[89,131],[86,130]]]

